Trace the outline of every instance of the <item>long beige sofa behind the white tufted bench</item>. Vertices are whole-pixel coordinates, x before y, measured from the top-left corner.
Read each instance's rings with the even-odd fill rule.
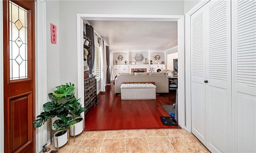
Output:
[[[169,92],[169,79],[166,78],[166,75],[164,75],[164,73],[122,73],[118,74],[114,81],[116,94],[121,93],[120,87],[122,85],[122,82],[155,82],[156,93]]]

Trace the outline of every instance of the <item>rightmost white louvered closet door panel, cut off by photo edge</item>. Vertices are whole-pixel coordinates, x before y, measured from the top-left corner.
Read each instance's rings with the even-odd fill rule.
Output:
[[[256,1],[232,1],[232,152],[256,152]]]

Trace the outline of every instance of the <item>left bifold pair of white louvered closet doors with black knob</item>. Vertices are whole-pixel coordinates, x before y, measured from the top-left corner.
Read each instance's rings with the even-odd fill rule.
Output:
[[[231,137],[231,4],[209,1],[191,16],[192,133],[211,152]]]

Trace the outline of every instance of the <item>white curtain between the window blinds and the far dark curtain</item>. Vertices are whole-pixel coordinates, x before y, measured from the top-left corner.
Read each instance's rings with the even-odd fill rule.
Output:
[[[104,62],[106,62],[106,60],[104,60],[105,58],[105,54],[106,51],[104,51],[104,43],[103,43],[103,39],[100,38],[99,39],[99,44],[100,44],[100,91],[105,91],[105,85],[106,85],[106,81],[105,81],[105,73],[104,73]]]

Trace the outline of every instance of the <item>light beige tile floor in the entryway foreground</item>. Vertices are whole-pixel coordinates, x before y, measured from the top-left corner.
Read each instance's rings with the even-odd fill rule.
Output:
[[[48,146],[51,150],[54,144]],[[50,150],[50,151],[51,151]],[[50,153],[48,151],[48,153]],[[70,137],[60,153],[210,153],[185,129],[88,131]]]

